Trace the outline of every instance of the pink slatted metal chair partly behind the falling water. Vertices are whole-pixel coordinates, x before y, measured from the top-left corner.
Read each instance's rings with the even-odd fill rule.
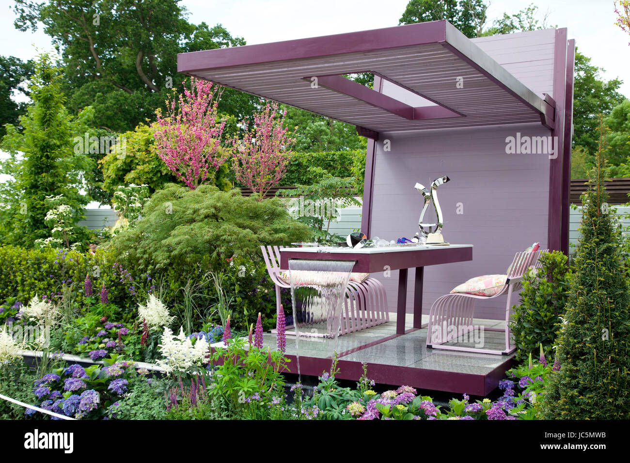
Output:
[[[260,246],[269,277],[275,284],[276,311],[280,311],[280,291],[291,285],[280,277],[280,249],[284,246]],[[389,321],[387,293],[376,278],[366,278],[363,282],[348,282],[346,298],[341,317],[341,334],[370,328]],[[290,334],[287,331],[287,334]]]

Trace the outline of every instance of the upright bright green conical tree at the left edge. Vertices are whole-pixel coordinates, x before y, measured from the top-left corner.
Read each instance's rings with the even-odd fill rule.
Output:
[[[60,80],[61,72],[49,55],[40,55],[29,88],[33,104],[20,117],[21,129],[6,125],[1,147],[10,157],[3,162],[3,171],[14,180],[0,188],[3,243],[33,246],[36,239],[48,237],[48,196],[66,198],[75,222],[88,202],[80,188],[93,165],[89,156],[75,152],[73,137],[88,130],[93,109],[88,106],[77,117],[69,115]]]

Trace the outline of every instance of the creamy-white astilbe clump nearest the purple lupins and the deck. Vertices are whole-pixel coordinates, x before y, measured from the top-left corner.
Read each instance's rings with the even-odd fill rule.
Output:
[[[193,345],[193,340],[186,338],[183,328],[180,328],[180,334],[174,336],[173,331],[164,327],[158,347],[163,358],[157,360],[157,365],[167,374],[186,372],[193,365],[201,366],[209,353],[209,346],[205,341],[197,340]]]

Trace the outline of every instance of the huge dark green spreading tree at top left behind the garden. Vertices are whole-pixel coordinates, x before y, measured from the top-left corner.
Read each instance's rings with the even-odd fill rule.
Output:
[[[185,76],[177,72],[181,52],[244,45],[221,25],[193,25],[174,0],[15,0],[15,26],[38,23],[62,55],[67,107],[93,105],[96,120],[112,132],[133,130],[163,107],[166,93]],[[226,92],[225,111],[242,116],[255,100]]]

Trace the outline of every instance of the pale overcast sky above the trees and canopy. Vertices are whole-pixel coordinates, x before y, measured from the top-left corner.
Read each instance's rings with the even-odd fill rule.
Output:
[[[232,35],[249,45],[294,38],[398,25],[408,0],[183,0],[190,12],[188,20],[210,26],[222,24]],[[620,77],[621,93],[630,96],[630,36],[614,25],[612,0],[491,0],[489,21],[505,13],[516,13],[530,3],[539,6],[547,25],[568,28],[580,51],[592,64],[605,69],[604,79]],[[37,49],[52,50],[49,37],[41,29],[35,33],[14,28],[13,1],[0,0],[0,55],[27,60]],[[2,153],[0,152],[0,156]],[[2,180],[0,174],[0,181]]]

